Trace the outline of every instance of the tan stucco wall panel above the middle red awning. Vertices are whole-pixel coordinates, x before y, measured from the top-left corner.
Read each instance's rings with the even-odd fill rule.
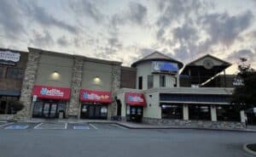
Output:
[[[94,79],[98,76],[100,82]],[[94,62],[84,62],[81,88],[99,91],[111,91],[112,85],[112,65]]]

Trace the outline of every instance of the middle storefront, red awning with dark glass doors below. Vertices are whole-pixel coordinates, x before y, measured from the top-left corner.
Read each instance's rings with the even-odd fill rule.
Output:
[[[111,93],[106,91],[80,91],[80,118],[107,120]]]

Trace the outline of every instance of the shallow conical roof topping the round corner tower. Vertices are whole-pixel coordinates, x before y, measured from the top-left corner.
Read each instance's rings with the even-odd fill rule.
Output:
[[[183,63],[180,61],[177,61],[176,59],[172,59],[171,57],[160,53],[158,51],[154,51],[154,53],[150,53],[147,56],[145,56],[143,59],[139,59],[133,64],[131,64],[131,67],[136,67],[137,64],[143,63],[144,61],[170,61],[178,64],[179,69],[183,68]]]

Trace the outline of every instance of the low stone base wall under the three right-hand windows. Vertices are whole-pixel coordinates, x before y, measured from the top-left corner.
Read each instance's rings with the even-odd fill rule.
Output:
[[[151,125],[183,126],[192,128],[244,129],[245,123],[236,121],[183,121],[143,118],[143,122]]]

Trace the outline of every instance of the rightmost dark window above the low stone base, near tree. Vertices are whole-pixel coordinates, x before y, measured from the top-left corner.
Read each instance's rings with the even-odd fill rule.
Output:
[[[240,112],[231,105],[216,106],[218,121],[240,121]]]

